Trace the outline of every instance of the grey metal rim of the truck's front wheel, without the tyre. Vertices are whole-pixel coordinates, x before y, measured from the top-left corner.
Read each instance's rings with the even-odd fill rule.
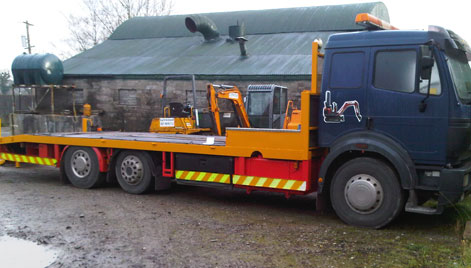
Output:
[[[383,188],[375,177],[358,174],[345,185],[345,200],[355,212],[371,214],[383,203]]]

